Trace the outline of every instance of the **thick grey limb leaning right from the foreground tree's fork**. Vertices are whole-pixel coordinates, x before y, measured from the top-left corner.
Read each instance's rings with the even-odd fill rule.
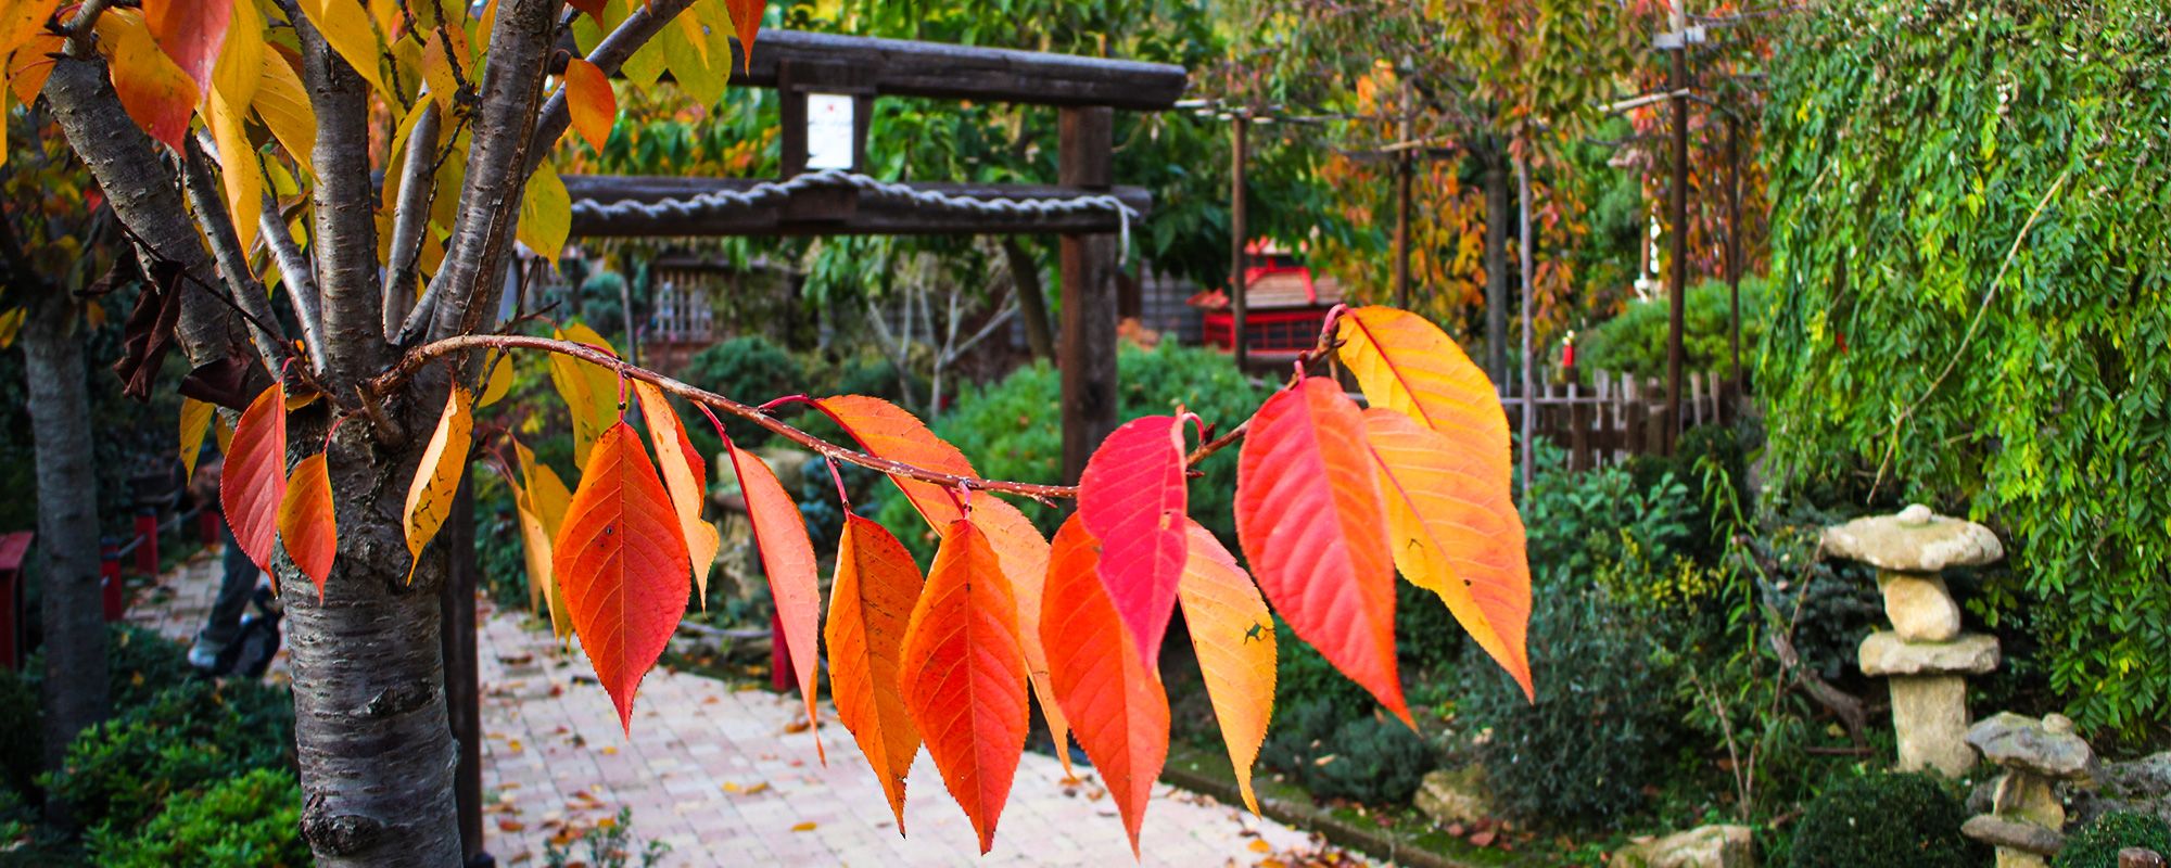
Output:
[[[482,69],[482,108],[460,189],[460,219],[445,245],[445,265],[430,280],[430,293],[439,295],[432,336],[475,332],[497,306],[560,7],[560,0],[504,0],[497,9],[491,63]]]

